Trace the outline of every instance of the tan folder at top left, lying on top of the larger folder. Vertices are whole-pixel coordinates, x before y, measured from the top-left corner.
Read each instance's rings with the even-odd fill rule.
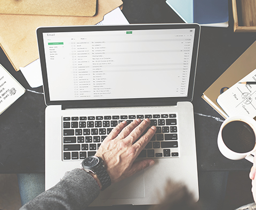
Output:
[[[0,14],[93,16],[97,0],[0,0]]]

